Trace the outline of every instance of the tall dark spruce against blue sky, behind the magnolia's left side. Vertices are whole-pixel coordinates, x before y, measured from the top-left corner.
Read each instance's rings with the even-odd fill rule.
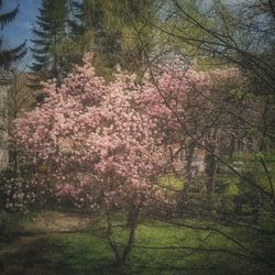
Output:
[[[59,80],[67,70],[63,51],[67,38],[68,4],[67,0],[43,0],[33,28],[32,40],[34,62],[31,69],[37,73],[40,80],[56,78]]]

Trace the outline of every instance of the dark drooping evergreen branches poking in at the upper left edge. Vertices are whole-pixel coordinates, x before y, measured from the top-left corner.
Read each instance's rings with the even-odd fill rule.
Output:
[[[12,22],[19,12],[19,6],[18,6],[9,12],[1,13],[2,6],[3,6],[3,1],[0,0],[0,28],[1,30],[3,30],[3,28],[7,24]],[[26,54],[25,42],[13,48],[4,48],[3,37],[1,35],[0,37],[0,67],[9,68],[12,62],[19,61],[25,54]]]

